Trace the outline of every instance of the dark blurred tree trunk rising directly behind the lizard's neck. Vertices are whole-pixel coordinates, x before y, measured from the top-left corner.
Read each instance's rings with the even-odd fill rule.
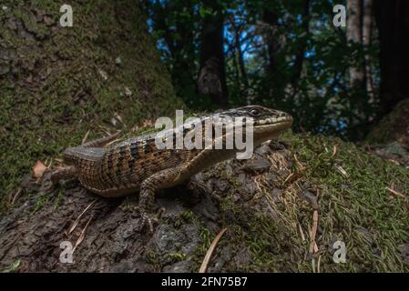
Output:
[[[214,0],[204,0],[203,6],[213,13],[205,15],[201,28],[199,93],[209,95],[212,104],[226,105],[228,91],[224,66],[224,15]]]

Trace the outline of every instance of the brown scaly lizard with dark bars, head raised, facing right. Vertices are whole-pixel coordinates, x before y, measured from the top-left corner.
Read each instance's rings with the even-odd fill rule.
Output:
[[[206,120],[215,115],[251,119],[253,146],[280,135],[291,127],[293,121],[291,115],[285,112],[260,105],[248,105],[202,116],[197,118],[196,123],[183,124],[171,129],[170,135],[175,137],[175,132],[179,130],[186,136],[192,130],[192,126],[196,127],[198,123],[204,129]],[[214,132],[214,127],[212,130]],[[159,149],[156,145],[158,132],[139,135],[104,147],[116,140],[118,135],[119,132],[81,146],[66,148],[63,153],[66,166],[54,171],[51,181],[56,184],[61,179],[76,177],[87,190],[103,197],[118,197],[139,192],[138,207],[141,220],[138,229],[148,226],[150,232],[153,231],[151,208],[154,206],[157,190],[177,186],[189,177],[230,159],[239,152],[236,146],[232,149],[215,149],[214,136],[210,146],[202,149]],[[225,142],[227,131],[224,130],[219,138]]]

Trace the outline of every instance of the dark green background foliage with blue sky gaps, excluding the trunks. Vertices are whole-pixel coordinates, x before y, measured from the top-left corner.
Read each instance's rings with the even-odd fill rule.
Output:
[[[214,11],[194,0],[147,3],[150,28],[177,94],[190,107],[212,108],[210,100],[197,93],[196,82],[201,20]],[[333,5],[346,5],[345,1],[311,0],[308,15],[304,15],[304,4],[303,0],[221,2],[230,106],[267,105],[291,113],[295,130],[362,139],[377,110],[376,32],[369,46],[348,43],[345,28],[332,25]],[[267,23],[266,13],[275,15],[275,25]],[[273,60],[268,45],[274,49]],[[240,54],[245,72],[240,68]],[[300,54],[303,62],[298,72]],[[349,84],[349,68],[363,67],[364,55],[373,71],[372,103],[366,90]]]

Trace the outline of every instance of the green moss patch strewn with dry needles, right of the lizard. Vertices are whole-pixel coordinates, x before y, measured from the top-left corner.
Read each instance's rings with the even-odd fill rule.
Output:
[[[221,224],[229,231],[218,248],[251,252],[247,264],[227,270],[409,271],[400,252],[409,242],[409,170],[340,139],[287,133],[282,140],[289,150],[270,155],[273,163],[265,174],[243,183],[240,174],[226,174],[223,165],[210,173],[231,186],[220,205]],[[314,211],[316,246],[310,236]],[[346,246],[344,264],[333,261],[338,240]]]

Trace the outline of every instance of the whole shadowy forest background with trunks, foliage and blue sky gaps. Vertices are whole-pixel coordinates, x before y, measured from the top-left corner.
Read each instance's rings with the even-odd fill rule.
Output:
[[[333,25],[343,5],[346,25]],[[148,26],[189,107],[258,104],[362,140],[409,96],[406,1],[151,0]],[[339,17],[337,18],[339,19]]]

